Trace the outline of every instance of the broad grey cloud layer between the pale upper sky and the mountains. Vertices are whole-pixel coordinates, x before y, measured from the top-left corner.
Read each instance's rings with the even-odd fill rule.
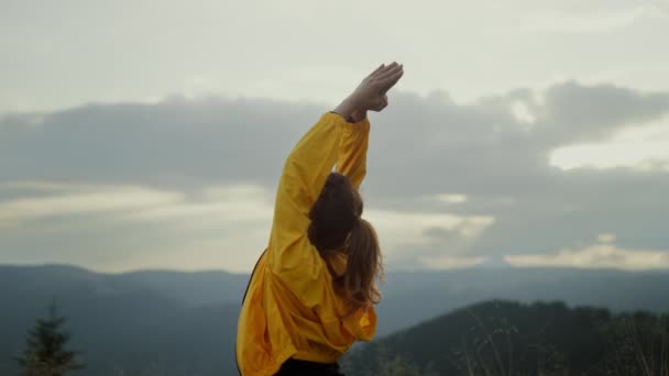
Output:
[[[567,81],[470,103],[441,91],[391,99],[386,111],[370,114],[362,193],[364,215],[395,265],[552,255],[602,233],[615,233],[626,252],[666,246],[669,174],[661,164],[641,172],[625,159],[566,170],[550,156],[583,143],[615,144],[621,134],[662,145],[656,126],[669,93]],[[31,113],[4,117],[0,218],[23,225],[0,229],[0,247],[10,250],[9,261],[41,255],[118,267],[219,250],[220,267],[250,268],[266,243],[283,161],[327,110],[171,97],[43,113],[39,123]]]

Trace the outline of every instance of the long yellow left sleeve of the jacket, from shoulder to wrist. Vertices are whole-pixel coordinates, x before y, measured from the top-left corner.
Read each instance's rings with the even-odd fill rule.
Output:
[[[305,306],[318,303],[320,294],[314,283],[326,270],[307,237],[308,215],[338,159],[348,125],[339,114],[322,114],[286,158],[278,183],[268,266]]]

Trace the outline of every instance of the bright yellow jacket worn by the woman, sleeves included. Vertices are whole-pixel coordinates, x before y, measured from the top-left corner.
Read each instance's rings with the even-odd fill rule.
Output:
[[[274,375],[290,357],[333,363],[353,341],[374,336],[374,309],[351,313],[307,237],[309,210],[334,164],[360,187],[369,133],[369,119],[348,123],[328,112],[286,159],[270,243],[251,276],[238,322],[237,361],[243,376]],[[330,264],[341,274],[346,257]]]

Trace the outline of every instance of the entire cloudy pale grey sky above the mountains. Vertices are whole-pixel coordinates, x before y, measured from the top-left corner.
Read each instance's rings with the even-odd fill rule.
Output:
[[[669,268],[669,1],[0,0],[0,264],[250,272],[381,63],[388,269]]]

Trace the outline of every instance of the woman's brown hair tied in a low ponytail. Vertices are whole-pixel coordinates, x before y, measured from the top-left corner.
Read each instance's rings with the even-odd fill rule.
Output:
[[[381,247],[376,231],[363,220],[362,198],[343,175],[331,173],[309,212],[309,241],[328,263],[331,254],[343,252],[347,268],[338,276],[328,264],[334,288],[355,307],[376,303],[381,292],[375,279],[381,277]]]

